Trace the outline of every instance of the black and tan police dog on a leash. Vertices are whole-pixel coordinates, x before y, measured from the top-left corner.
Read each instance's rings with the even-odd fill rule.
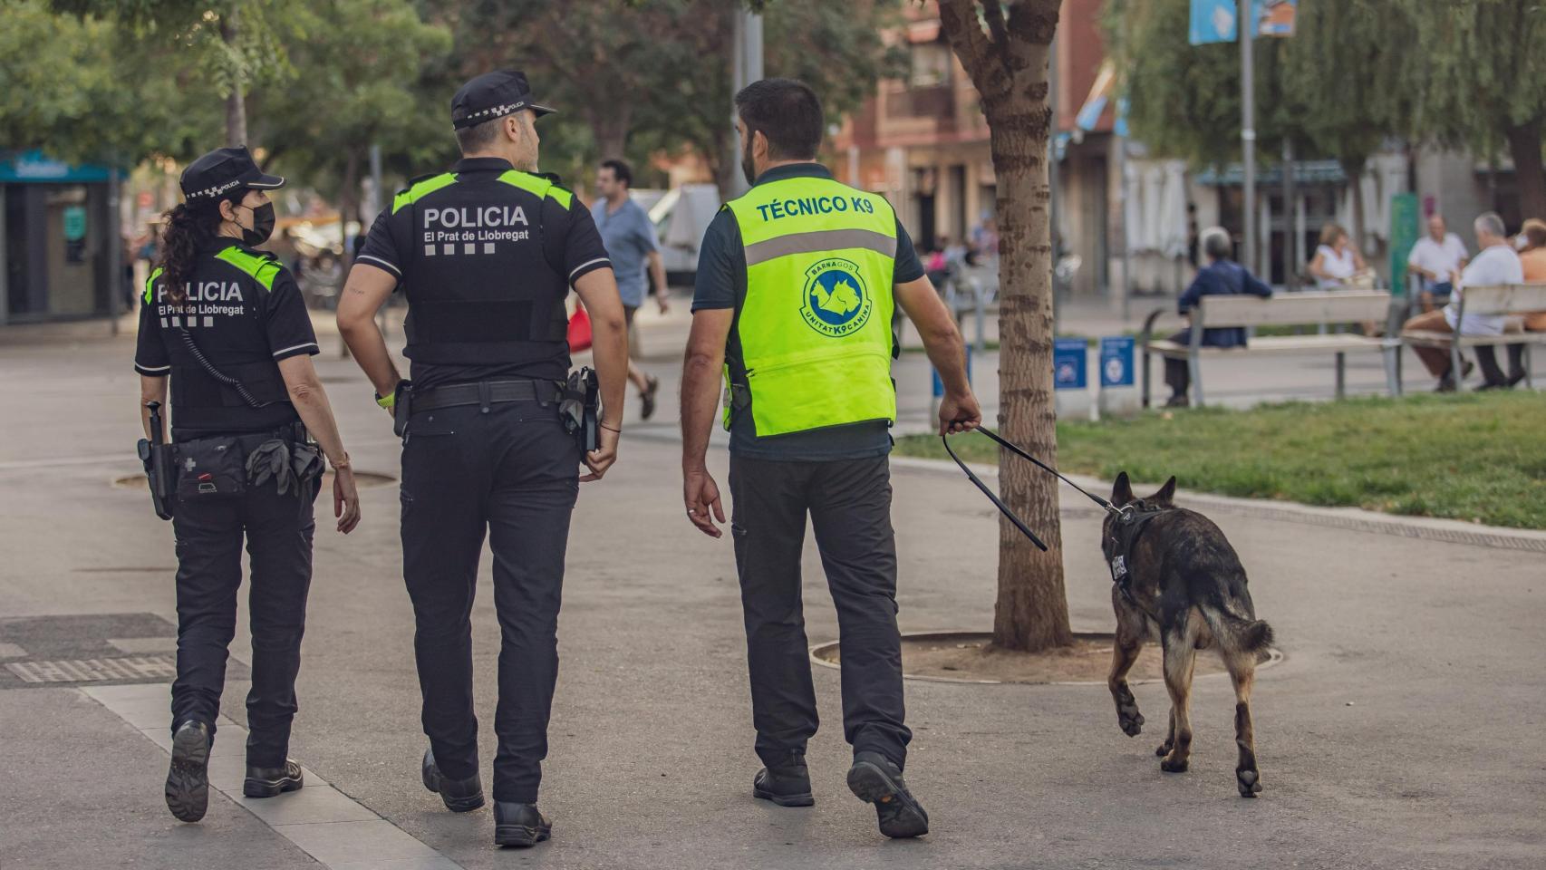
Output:
[[[1257,661],[1266,658],[1272,643],[1272,627],[1255,618],[1246,569],[1224,533],[1206,516],[1175,507],[1173,499],[1175,477],[1147,499],[1133,498],[1125,471],[1112,488],[1115,507],[1158,508],[1127,553],[1110,552],[1118,541],[1113,538],[1118,519],[1105,518],[1107,559],[1124,556],[1119,564],[1127,572],[1125,590],[1121,583],[1112,584],[1116,644],[1107,685],[1116,700],[1116,722],[1129,737],[1142,731],[1144,717],[1127,688],[1127,672],[1144,640],[1158,637],[1164,647],[1164,685],[1170,691],[1170,732],[1155,754],[1161,756],[1160,770],[1184,771],[1192,754],[1192,664],[1198,649],[1218,649],[1235,683],[1235,745],[1240,748],[1235,785],[1243,797],[1255,797],[1262,791],[1262,774],[1251,728],[1251,685]]]

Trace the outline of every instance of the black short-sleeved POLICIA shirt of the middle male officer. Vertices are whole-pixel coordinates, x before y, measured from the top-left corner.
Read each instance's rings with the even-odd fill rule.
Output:
[[[563,297],[577,278],[595,269],[612,267],[591,210],[578,196],[555,187],[558,196],[538,198],[529,190],[501,182],[499,176],[512,170],[515,167],[501,158],[464,158],[450,170],[456,178],[453,184],[425,193],[411,206],[388,209],[376,218],[356,261],[391,274],[399,281],[397,291],[408,292],[410,335],[416,320],[413,297],[419,292],[407,286],[413,274],[428,275],[433,281],[436,269],[445,269],[447,274],[459,275],[455,280],[476,284],[482,295],[498,295],[501,286],[523,280],[552,280],[557,275],[561,283],[558,298],[553,300],[558,315]],[[523,175],[544,178],[557,185],[552,175]],[[504,207],[490,216],[492,204]],[[447,215],[448,212],[453,215]],[[496,325],[496,329],[504,329],[504,325]],[[414,389],[421,391],[476,380],[569,377],[569,343],[560,335],[561,325],[550,337],[540,340],[519,332],[518,325],[509,325],[509,340],[523,342],[519,359],[487,363],[416,359],[414,342],[410,338],[405,351],[410,359],[408,377]]]

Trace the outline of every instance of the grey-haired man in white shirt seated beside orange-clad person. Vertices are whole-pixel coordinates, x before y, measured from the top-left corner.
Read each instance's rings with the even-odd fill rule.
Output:
[[[1413,317],[1402,326],[1402,331],[1459,332],[1461,335],[1503,334],[1507,318],[1500,315],[1467,314],[1464,323],[1455,323],[1459,315],[1458,303],[1467,286],[1486,287],[1492,284],[1520,284],[1524,281],[1524,267],[1520,264],[1520,255],[1509,244],[1509,236],[1504,235],[1503,218],[1497,212],[1486,212],[1476,218],[1475,229],[1476,246],[1481,250],[1466,266],[1464,272],[1452,275],[1455,291],[1450,294],[1450,303],[1441,311],[1429,311]],[[1447,342],[1432,346],[1413,346],[1411,351],[1418,354],[1418,359],[1422,360],[1429,372],[1439,379],[1438,393],[1452,393],[1456,380],[1464,379],[1470,371],[1470,362],[1463,362],[1463,369],[1458,376],[1450,371],[1453,366],[1450,365]],[[1490,348],[1486,354],[1478,349],[1476,359],[1481,362],[1481,369],[1489,385],[1507,383],[1507,377],[1498,369]]]

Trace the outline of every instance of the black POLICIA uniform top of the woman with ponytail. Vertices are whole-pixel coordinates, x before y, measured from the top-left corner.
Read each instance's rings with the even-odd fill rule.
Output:
[[[175,440],[269,431],[300,420],[278,362],[318,352],[317,334],[295,278],[274,255],[218,238],[199,252],[184,304],[172,301],[161,277],[147,281],[141,300],[135,371],[172,377]],[[252,408],[215,380],[184,332],[212,366],[267,405]]]

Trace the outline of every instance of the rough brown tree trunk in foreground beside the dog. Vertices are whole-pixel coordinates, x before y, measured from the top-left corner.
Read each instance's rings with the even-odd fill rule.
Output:
[[[999,179],[999,428],[1048,465],[1057,462],[1053,405],[1051,189],[1047,176],[1050,45],[1057,0],[1022,0],[994,14],[979,5],[942,0],[940,19],[968,70],[988,117],[989,151]],[[1002,9],[1002,8],[999,8]],[[1037,550],[1008,522],[999,522],[999,596],[993,643],[1036,652],[1073,643],[1064,592],[1057,479],[1000,451],[1003,502],[1047,542]]]

